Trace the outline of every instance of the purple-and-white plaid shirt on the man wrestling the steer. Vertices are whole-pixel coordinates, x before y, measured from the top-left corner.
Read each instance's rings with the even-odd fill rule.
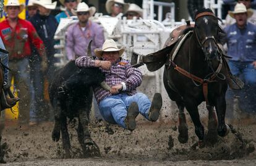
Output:
[[[87,56],[79,57],[75,60],[75,64],[79,67],[95,67],[95,60]],[[116,64],[112,65],[110,70],[100,68],[106,75],[106,83],[109,86],[119,85],[121,82],[126,84],[126,93],[129,96],[134,95],[136,88],[142,83],[142,73],[138,68],[131,67],[129,61],[120,59]],[[98,103],[112,94],[101,88],[101,86],[93,87],[95,98]]]

